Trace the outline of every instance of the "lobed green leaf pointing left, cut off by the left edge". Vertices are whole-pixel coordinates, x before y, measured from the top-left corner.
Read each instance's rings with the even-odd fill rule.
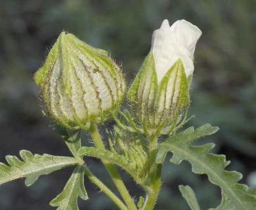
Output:
[[[70,165],[77,165],[79,160],[70,157],[51,156],[49,154],[33,155],[28,150],[21,150],[20,157],[6,156],[10,166],[0,163],[0,184],[26,177],[26,186],[32,185],[41,175],[48,175]]]

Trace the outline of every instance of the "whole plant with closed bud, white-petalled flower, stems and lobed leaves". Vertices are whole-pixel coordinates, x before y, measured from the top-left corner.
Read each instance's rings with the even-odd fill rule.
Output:
[[[169,152],[171,163],[178,165],[186,160],[194,173],[207,175],[221,188],[222,201],[215,209],[256,209],[253,190],[238,183],[242,179],[240,173],[225,170],[230,162],[223,155],[211,153],[215,145],[194,145],[194,141],[219,128],[205,124],[180,130],[191,118],[187,117],[190,84],[194,51],[201,34],[185,20],[172,26],[163,20],[161,28],[153,33],[150,53],[127,88],[119,66],[108,52],[91,47],[71,33],[60,33],[34,79],[41,89],[43,113],[51,120],[51,128],[62,135],[72,155],[39,155],[21,150],[21,159],[6,156],[8,164],[0,165],[0,184],[24,177],[30,186],[41,175],[72,166],[70,179],[50,202],[58,210],[79,209],[77,199],[89,199],[85,190],[88,180],[119,209],[150,210],[158,200],[163,162]],[[127,108],[122,107],[124,102]],[[98,125],[109,119],[116,124],[106,129],[108,138],[102,139]],[[89,146],[81,144],[81,130],[89,133]],[[102,161],[119,194],[93,175],[89,170],[93,165],[87,165],[87,157]],[[131,176],[144,193],[131,197],[117,168]],[[180,185],[179,190],[191,209],[200,209],[190,186]]]

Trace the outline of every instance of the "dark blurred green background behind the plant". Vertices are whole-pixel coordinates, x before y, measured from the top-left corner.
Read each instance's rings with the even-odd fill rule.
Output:
[[[0,161],[21,149],[33,153],[70,155],[62,139],[49,129],[41,114],[43,104],[33,74],[62,30],[74,33],[94,47],[110,51],[131,83],[150,50],[152,31],[163,19],[185,19],[203,35],[195,53],[191,89],[190,125],[211,123],[220,131],[204,142],[217,144],[226,154],[228,169],[244,174],[252,185],[256,171],[256,1],[117,1],[117,0],[1,0],[0,1]],[[85,134],[85,138],[89,138]],[[5,162],[6,163],[6,162]],[[89,160],[96,174],[106,177],[99,161]],[[220,202],[220,190],[207,177],[190,172],[186,162],[167,163],[165,184],[156,209],[188,209],[179,184],[194,188],[202,209]],[[169,173],[170,172],[170,173]],[[48,203],[64,187],[72,168],[41,177],[26,188],[24,180],[0,187],[0,209],[53,209]],[[85,179],[90,200],[81,209],[116,209],[104,194]],[[127,178],[133,196],[139,186]]]

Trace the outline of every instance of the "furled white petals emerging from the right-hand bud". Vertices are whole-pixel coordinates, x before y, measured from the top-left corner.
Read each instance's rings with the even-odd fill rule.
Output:
[[[163,20],[161,28],[154,31],[151,51],[156,63],[158,83],[181,58],[186,77],[194,72],[193,55],[202,31],[186,20],[178,20],[171,27]]]

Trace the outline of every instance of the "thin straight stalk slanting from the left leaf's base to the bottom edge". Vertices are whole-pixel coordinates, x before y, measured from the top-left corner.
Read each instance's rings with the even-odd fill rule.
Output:
[[[99,179],[97,179],[95,175],[93,175],[93,173],[91,173],[91,171],[89,171],[89,169],[86,166],[85,166],[85,175],[87,175],[89,180],[91,180],[93,184],[98,186],[98,188],[100,188],[100,190],[102,190],[104,194],[106,194],[114,203],[116,203],[119,209],[128,210],[127,207],[123,204],[123,202],[119,200],[119,198],[105,184],[103,184]]]

